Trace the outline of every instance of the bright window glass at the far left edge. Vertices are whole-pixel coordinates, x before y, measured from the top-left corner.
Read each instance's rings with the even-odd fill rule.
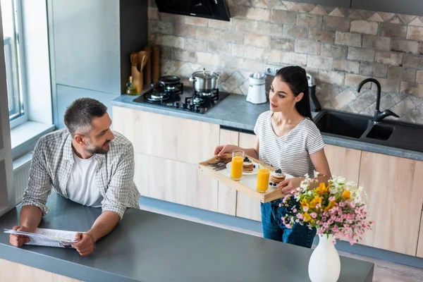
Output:
[[[27,121],[23,83],[23,44],[20,42],[20,0],[0,0],[6,61],[8,114],[11,128]]]

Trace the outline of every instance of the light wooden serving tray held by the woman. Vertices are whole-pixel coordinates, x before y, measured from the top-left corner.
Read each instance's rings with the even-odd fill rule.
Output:
[[[268,164],[264,164],[262,161],[258,161],[257,159],[254,159],[250,156],[247,156],[247,157],[249,159],[252,159],[252,161],[254,161],[257,164],[269,166]],[[226,154],[226,156],[223,158],[231,159],[232,155]],[[285,195],[283,195],[283,193],[279,191],[277,188],[275,188],[274,186],[269,186],[269,190],[267,190],[267,192],[265,193],[257,192],[256,190],[257,174],[255,175],[243,174],[243,177],[241,178],[241,180],[235,181],[231,178],[231,171],[229,171],[226,168],[223,169],[222,171],[214,171],[213,170],[214,167],[210,165],[216,164],[220,160],[221,159],[219,159],[219,157],[214,156],[212,157],[212,159],[209,159],[207,161],[202,161],[198,165],[198,169],[208,174],[209,176],[212,176],[212,178],[219,180],[221,183],[225,183],[226,185],[228,185],[228,187],[233,188],[237,190],[238,192],[241,192],[247,195],[248,197],[257,199],[263,203],[271,202],[273,200],[280,199],[281,197],[285,197]],[[275,171],[276,169],[271,167],[270,170]],[[286,178],[292,178],[292,177],[293,176],[286,174]]]

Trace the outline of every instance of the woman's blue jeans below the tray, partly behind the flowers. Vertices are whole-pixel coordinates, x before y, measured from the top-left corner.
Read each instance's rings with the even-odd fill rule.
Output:
[[[279,207],[280,203],[281,199],[265,204],[261,203],[264,238],[311,248],[316,228],[310,230],[307,226],[301,226],[299,223],[295,223],[291,229],[286,228],[281,218],[288,214],[288,210],[285,207]],[[295,202],[295,205],[300,207],[298,202]]]

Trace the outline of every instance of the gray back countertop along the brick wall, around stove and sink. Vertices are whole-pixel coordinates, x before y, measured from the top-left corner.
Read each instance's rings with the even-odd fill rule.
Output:
[[[138,96],[121,95],[112,101],[113,106],[121,106],[128,109],[136,109],[142,111],[149,111],[157,114],[164,114],[168,116],[176,116],[180,118],[189,118],[196,121],[204,121],[207,123],[216,123],[226,128],[233,128],[235,130],[244,130],[251,132],[254,130],[255,123],[260,114],[264,111],[269,111],[269,103],[266,104],[251,104],[245,100],[244,95],[230,94],[226,99],[219,102],[212,109],[205,114],[192,113],[190,111],[180,111],[177,109],[166,108],[164,106],[157,106],[154,104],[140,104],[133,102]],[[318,113],[312,112],[312,116],[317,116]],[[379,154],[388,154],[395,157],[404,157],[407,159],[416,159],[423,161],[423,153],[410,151],[407,149],[398,149],[387,147],[383,145],[376,145],[367,142],[350,140],[343,137],[335,137],[322,133],[323,140],[328,145],[336,145],[347,147],[351,149],[360,149],[363,151],[374,152]]]

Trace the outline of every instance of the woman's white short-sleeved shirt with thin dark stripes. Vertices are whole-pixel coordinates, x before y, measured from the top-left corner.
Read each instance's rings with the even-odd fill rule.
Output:
[[[309,155],[324,148],[317,126],[305,118],[289,133],[278,137],[271,125],[271,115],[271,111],[261,114],[254,128],[259,137],[259,159],[294,177],[306,173],[313,176],[314,166]]]

